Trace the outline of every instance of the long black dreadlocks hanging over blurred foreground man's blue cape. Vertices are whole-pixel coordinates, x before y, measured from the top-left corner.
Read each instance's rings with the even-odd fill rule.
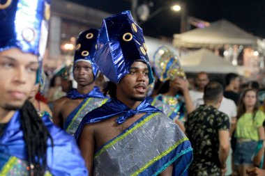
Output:
[[[21,112],[22,131],[27,147],[29,175],[44,175],[47,170],[47,140],[53,140],[33,104],[27,100]]]

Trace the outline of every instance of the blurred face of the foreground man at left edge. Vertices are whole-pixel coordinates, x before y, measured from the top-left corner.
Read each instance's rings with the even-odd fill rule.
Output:
[[[38,58],[20,49],[0,52],[0,109],[20,109],[36,83]]]

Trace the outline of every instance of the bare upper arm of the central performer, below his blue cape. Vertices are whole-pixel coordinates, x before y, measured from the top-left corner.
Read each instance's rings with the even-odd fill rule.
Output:
[[[82,157],[86,162],[86,168],[89,170],[89,175],[93,175],[93,155],[94,155],[94,129],[92,125],[86,125],[79,137],[79,149]]]

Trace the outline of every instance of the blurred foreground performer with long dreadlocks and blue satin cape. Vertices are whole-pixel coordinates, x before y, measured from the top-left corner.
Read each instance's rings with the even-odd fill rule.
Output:
[[[75,139],[28,97],[47,41],[50,1],[0,4],[0,175],[87,175]],[[39,58],[39,61],[38,61]]]

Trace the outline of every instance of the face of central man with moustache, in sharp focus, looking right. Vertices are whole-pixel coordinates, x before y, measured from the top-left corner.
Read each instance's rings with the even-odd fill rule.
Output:
[[[149,78],[146,63],[135,61],[127,74],[117,85],[117,97],[133,101],[143,101],[146,97]],[[120,96],[119,96],[120,95]]]

